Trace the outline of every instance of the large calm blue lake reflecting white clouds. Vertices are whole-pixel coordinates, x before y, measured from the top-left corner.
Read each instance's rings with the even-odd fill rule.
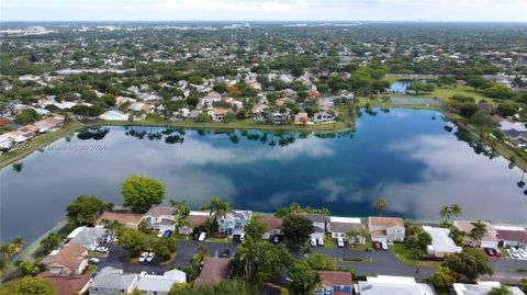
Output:
[[[1,170],[1,239],[37,238],[80,194],[121,204],[131,174],[165,182],[167,198],[193,208],[220,195],[234,208],[273,212],[298,202],[368,216],[383,196],[385,215],[436,219],[442,205],[458,203],[464,218],[527,224],[519,169],[449,128],[440,113],[385,112],[362,114],[355,133],[324,136],[161,127],[76,134],[26,157],[19,172]]]

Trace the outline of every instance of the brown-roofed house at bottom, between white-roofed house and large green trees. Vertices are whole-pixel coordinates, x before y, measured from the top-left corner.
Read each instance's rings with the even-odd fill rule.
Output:
[[[231,276],[231,259],[205,257],[203,269],[194,281],[194,286],[215,285]]]

